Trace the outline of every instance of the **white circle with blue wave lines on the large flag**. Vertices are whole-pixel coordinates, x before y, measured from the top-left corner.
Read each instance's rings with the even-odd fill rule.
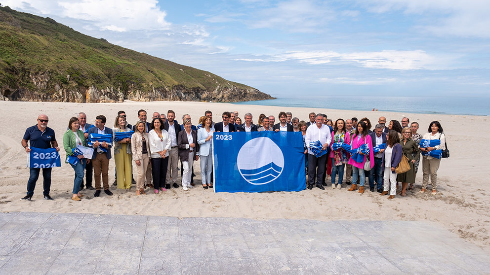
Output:
[[[254,138],[240,148],[237,166],[240,174],[248,183],[267,184],[278,178],[283,172],[283,152],[270,138]]]

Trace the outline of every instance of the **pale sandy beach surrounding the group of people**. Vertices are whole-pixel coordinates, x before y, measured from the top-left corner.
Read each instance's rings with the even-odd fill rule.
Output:
[[[490,134],[488,117],[461,115],[411,114],[396,112],[348,111],[334,109],[286,108],[277,106],[236,105],[230,103],[197,102],[124,102],[124,103],[39,103],[0,102],[0,210],[73,212],[127,215],[157,215],[172,217],[245,217],[252,219],[313,219],[313,220],[424,220],[434,222],[462,239],[470,241],[490,252],[490,208],[487,188],[489,182],[490,155],[479,155],[479,144]],[[308,113],[326,113],[335,120],[353,116],[367,117],[375,124],[379,116],[387,120],[401,120],[403,116],[410,122],[420,124],[419,133],[424,134],[433,120],[439,120],[447,135],[451,157],[443,159],[438,175],[438,195],[430,192],[419,194],[422,169],[420,167],[415,190],[408,191],[407,197],[396,196],[387,200],[377,192],[367,190],[363,195],[348,192],[345,185],[341,190],[325,191],[318,188],[301,192],[274,193],[213,193],[200,188],[199,163],[194,169],[196,187],[189,192],[182,188],[170,189],[159,195],[136,196],[135,188],[126,192],[111,187],[114,196],[93,198],[93,191],[83,190],[87,195],[81,202],[73,202],[74,171],[62,162],[61,168],[53,169],[51,196],[54,201],[42,199],[42,176],[38,179],[33,201],[21,201],[25,196],[29,170],[27,156],[21,146],[21,139],[27,127],[35,125],[39,114],[49,117],[48,127],[54,129],[62,146],[63,133],[68,120],[83,111],[87,122],[93,123],[95,116],[107,117],[106,126],[112,127],[119,110],[124,110],[129,123],[137,120],[137,111],[145,109],[151,117],[154,111],[172,109],[181,123],[182,115],[191,115],[197,124],[205,110],[211,110],[214,121],[221,121],[223,111],[237,110],[243,119],[245,112],[253,114],[256,122],[260,113],[276,116],[280,111],[290,111],[293,117],[308,120]],[[465,129],[465,130],[463,130]],[[467,130],[466,130],[467,129]],[[478,129],[478,131],[474,131]],[[474,133],[478,133],[475,135]],[[64,150],[60,150],[64,160]],[[478,157],[475,157],[478,156]],[[114,161],[109,167],[109,182],[114,181]],[[136,170],[134,170],[136,173]],[[344,179],[345,180],[345,179]],[[149,189],[147,189],[149,190]],[[430,186],[429,186],[430,190]]]

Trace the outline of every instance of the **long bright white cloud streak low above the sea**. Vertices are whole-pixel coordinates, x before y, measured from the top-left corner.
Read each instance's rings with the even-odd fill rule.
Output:
[[[327,63],[346,64],[358,63],[361,67],[372,69],[436,69],[448,62],[448,58],[437,59],[422,50],[394,51],[385,50],[379,52],[355,52],[338,53],[333,51],[289,52],[277,56],[237,59],[253,62],[284,62],[297,61],[310,65]]]

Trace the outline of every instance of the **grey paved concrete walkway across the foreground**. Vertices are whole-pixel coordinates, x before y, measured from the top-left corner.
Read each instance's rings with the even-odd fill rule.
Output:
[[[434,224],[0,213],[0,274],[490,274]]]

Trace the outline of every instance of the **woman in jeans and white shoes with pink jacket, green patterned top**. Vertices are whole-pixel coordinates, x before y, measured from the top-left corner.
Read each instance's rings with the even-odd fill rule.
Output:
[[[333,150],[333,143],[346,143],[350,144],[350,136],[344,129],[344,120],[339,118],[335,121],[335,126],[333,127],[332,132],[332,141],[330,142],[330,154],[328,155],[328,160],[332,166],[332,174],[331,174],[331,183],[332,189],[335,189],[335,179],[338,175],[337,180],[337,189],[340,189],[342,186],[342,180],[344,178],[344,167],[345,164],[349,161],[348,155],[342,148],[337,150]]]

